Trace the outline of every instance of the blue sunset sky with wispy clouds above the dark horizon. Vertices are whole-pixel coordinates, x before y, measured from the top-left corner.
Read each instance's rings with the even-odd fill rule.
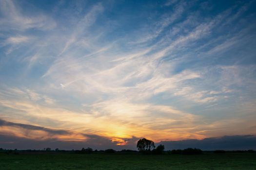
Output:
[[[254,138],[255,87],[256,0],[0,0],[0,147]]]

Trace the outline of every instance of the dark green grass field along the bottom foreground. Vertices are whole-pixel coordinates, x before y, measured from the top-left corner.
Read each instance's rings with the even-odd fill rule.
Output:
[[[256,153],[0,153],[0,170],[256,170]]]

